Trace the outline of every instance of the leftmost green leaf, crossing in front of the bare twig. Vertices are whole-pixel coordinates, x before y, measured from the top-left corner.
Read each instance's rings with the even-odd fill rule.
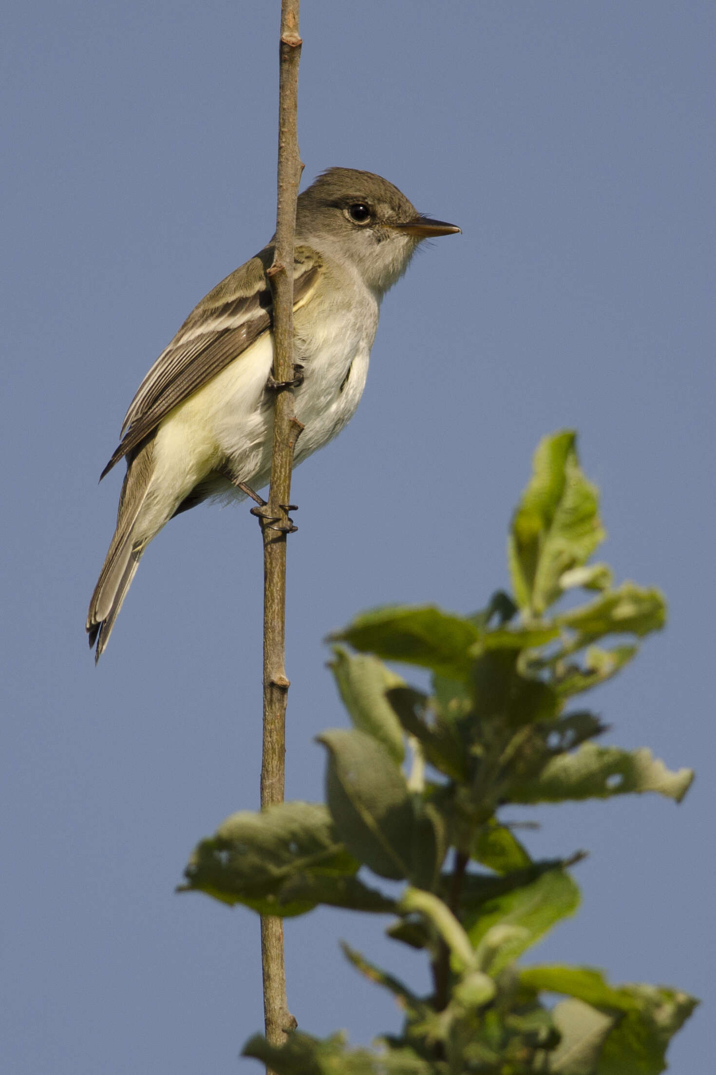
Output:
[[[316,903],[281,903],[287,882],[297,876],[347,877],[357,869],[325,806],[286,802],[228,817],[215,836],[198,844],[180,891],[203,891],[265,915],[299,915]]]

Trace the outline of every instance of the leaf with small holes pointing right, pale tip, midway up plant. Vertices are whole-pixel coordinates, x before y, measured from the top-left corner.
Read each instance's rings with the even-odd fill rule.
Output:
[[[620,750],[614,746],[583,744],[574,754],[552,758],[535,779],[515,784],[511,802],[562,802],[575,799],[610,799],[627,792],[657,791],[681,802],[693,772],[674,773],[646,748]]]

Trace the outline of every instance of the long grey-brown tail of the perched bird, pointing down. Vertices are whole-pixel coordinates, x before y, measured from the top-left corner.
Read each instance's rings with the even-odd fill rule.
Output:
[[[109,641],[114,621],[131,586],[142,554],[155,534],[137,533],[140,513],[145,503],[151,477],[150,441],[132,459],[128,467],[119,498],[117,529],[94,587],[87,613],[87,633],[90,647],[97,642],[97,663]],[[144,528],[143,528],[144,529]]]

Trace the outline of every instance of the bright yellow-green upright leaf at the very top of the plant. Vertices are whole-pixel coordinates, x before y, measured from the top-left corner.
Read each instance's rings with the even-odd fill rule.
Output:
[[[597,489],[580,470],[575,434],[545,436],[512,519],[508,561],[520,607],[535,616],[561,593],[565,572],[586,562],[604,539]]]

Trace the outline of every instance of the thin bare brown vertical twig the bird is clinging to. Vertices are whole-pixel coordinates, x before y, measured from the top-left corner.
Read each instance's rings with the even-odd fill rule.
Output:
[[[293,379],[293,244],[296,197],[303,164],[298,153],[299,0],[281,2],[278,203],[274,263],[268,270],[274,296],[274,378]],[[260,516],[264,548],[263,761],[261,805],[283,801],[284,723],[289,679],[284,668],[286,539],[291,530],[289,501],[293,450],[302,430],[293,411],[293,390],[279,388],[274,410],[274,443],[268,504]],[[282,1045],[296,1024],[289,1013],[283,963],[283,922],[261,919],[264,1026],[272,1045]]]

